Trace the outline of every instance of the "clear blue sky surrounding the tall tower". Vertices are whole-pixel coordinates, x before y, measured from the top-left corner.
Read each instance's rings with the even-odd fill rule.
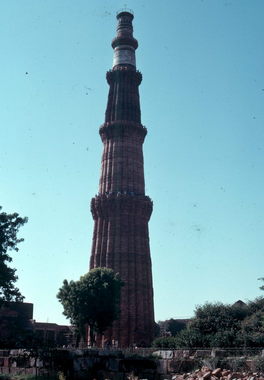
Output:
[[[116,11],[122,1],[2,0],[0,204],[38,321],[88,271]],[[261,295],[262,0],[133,0],[156,320]]]

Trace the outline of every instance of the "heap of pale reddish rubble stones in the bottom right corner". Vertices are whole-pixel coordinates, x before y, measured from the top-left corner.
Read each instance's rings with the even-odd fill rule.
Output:
[[[172,380],[264,380],[263,372],[234,372],[227,369],[202,367],[194,372],[172,376]]]

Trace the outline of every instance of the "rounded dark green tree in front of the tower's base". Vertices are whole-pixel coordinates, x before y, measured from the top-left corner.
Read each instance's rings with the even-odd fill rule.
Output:
[[[79,281],[64,280],[57,298],[64,307],[63,314],[76,326],[80,337],[85,337],[85,326],[90,328],[90,341],[94,333],[102,334],[119,316],[120,293],[123,282],[109,268],[95,268]]]

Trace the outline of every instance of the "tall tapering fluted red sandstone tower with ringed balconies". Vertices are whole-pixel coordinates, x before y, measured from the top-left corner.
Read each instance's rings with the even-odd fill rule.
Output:
[[[91,201],[94,233],[90,269],[112,268],[125,283],[120,319],[106,336],[119,347],[148,346],[153,339],[154,308],[148,221],[152,201],[145,195],[141,124],[133,14],[117,14],[114,60],[109,84],[99,193]]]

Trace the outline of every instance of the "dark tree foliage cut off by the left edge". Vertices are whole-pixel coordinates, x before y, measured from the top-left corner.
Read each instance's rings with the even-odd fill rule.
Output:
[[[7,214],[1,212],[0,207],[0,304],[4,301],[23,301],[18,288],[16,269],[8,263],[12,262],[9,251],[18,251],[17,245],[24,239],[17,237],[19,228],[27,222],[27,218],[21,218],[17,213]]]

